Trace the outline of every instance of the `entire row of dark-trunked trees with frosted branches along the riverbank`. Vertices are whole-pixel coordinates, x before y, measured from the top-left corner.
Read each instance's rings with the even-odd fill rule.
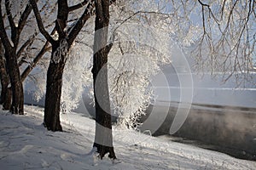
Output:
[[[90,69],[96,105],[94,146],[101,158],[107,153],[116,158],[111,110],[122,117],[120,122],[131,123],[132,127],[150,100],[149,78],[160,70],[160,65],[170,63],[171,40],[189,52],[192,48],[197,65],[210,65],[212,73],[224,71],[226,78],[237,71],[246,73],[244,77],[248,75],[255,57],[254,6],[254,0],[58,0],[56,3],[0,0],[3,109],[24,114],[22,82],[50,52],[44,126],[51,131],[62,131],[63,73],[67,60],[74,58],[74,42],[84,35],[83,43],[93,47]],[[94,18],[94,25],[85,26]],[[93,41],[89,38],[91,32],[84,27],[94,27]],[[76,45],[79,43],[82,41]],[[113,71],[108,70],[109,65]],[[101,88],[96,88],[96,83]]]

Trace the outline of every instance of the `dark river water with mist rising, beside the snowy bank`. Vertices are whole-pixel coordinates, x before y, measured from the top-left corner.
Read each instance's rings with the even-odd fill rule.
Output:
[[[151,107],[151,108],[150,108]],[[152,105],[148,114],[152,113]],[[154,106],[155,107],[155,106]],[[155,111],[164,111],[158,106]],[[183,126],[169,134],[177,107],[169,108],[165,121],[154,136],[168,135],[170,140],[217,150],[230,156],[256,161],[256,109],[219,105],[192,105]],[[160,114],[158,112],[157,114]],[[141,122],[147,120],[142,117]],[[150,127],[148,127],[150,129]],[[145,127],[144,129],[145,130]]]

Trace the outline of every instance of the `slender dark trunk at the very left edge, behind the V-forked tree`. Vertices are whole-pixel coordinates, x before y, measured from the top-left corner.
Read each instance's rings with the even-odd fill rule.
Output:
[[[0,104],[3,105],[3,110],[10,110],[12,93],[11,89],[8,88],[9,85],[9,75],[6,71],[5,59],[3,57],[3,44],[0,40],[0,78],[1,78],[1,101]]]

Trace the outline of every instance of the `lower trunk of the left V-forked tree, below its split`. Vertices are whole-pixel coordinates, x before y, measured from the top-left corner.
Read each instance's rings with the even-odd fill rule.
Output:
[[[12,89],[12,105],[10,111],[13,114],[24,114],[24,94],[20,77],[19,65],[16,59],[15,48],[11,51],[5,51],[6,64],[9,71],[9,77]]]

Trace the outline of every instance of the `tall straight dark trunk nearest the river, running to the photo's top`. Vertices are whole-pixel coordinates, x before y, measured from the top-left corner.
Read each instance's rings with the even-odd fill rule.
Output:
[[[96,0],[96,32],[94,37],[93,80],[96,102],[96,134],[94,147],[102,158],[109,153],[115,159],[110,101],[108,93],[108,23],[109,1]],[[100,73],[100,74],[99,74]]]

